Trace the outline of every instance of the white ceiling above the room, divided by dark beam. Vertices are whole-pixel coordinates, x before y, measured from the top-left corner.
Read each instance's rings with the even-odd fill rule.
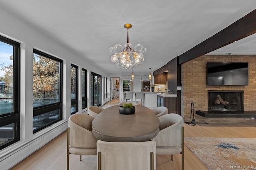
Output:
[[[255,0],[0,0],[11,12],[108,73],[131,72],[110,61],[108,49],[129,42],[148,55],[135,72],[149,72],[242,18]],[[256,54],[256,36],[209,54]]]

